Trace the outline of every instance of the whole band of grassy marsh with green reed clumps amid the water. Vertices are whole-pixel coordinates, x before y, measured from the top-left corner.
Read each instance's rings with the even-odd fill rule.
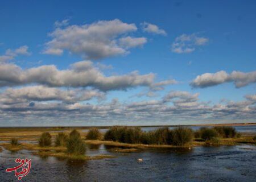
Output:
[[[233,124],[234,125],[234,124]],[[250,125],[254,125],[250,123]],[[209,126],[209,125],[207,125]],[[144,127],[144,126],[143,126]],[[86,156],[86,144],[104,144],[106,146],[126,147],[112,149],[114,152],[135,152],[144,148],[186,148],[191,150],[196,146],[234,145],[239,143],[256,144],[255,136],[244,136],[237,133],[230,125],[214,127],[200,127],[193,131],[189,127],[179,126],[175,129],[160,127],[154,131],[142,131],[140,127],[112,126],[106,133],[100,133],[98,128],[90,127],[88,132],[68,127],[69,130],[56,132],[51,127],[8,128],[0,129],[0,140],[10,141],[1,143],[6,150],[18,151],[22,149],[32,151],[34,155],[55,156],[67,159],[105,159],[110,155]],[[61,128],[63,130],[63,128]],[[20,142],[35,140],[38,144]],[[54,141],[54,143],[52,142]],[[2,148],[0,148],[0,152]]]

